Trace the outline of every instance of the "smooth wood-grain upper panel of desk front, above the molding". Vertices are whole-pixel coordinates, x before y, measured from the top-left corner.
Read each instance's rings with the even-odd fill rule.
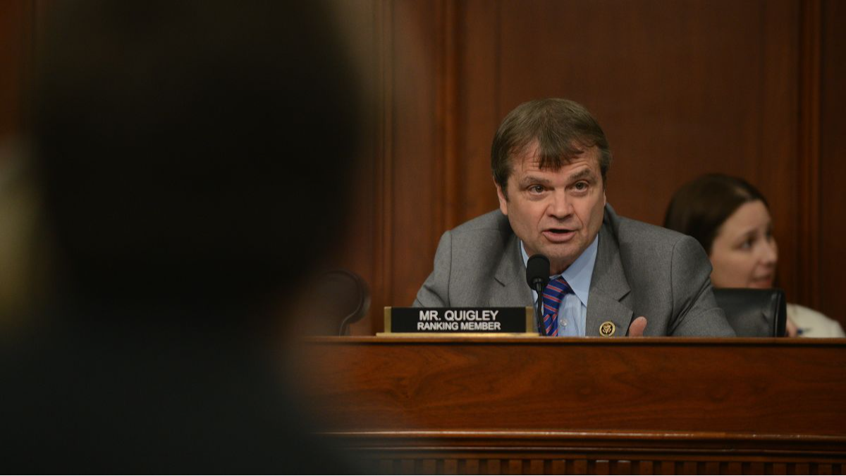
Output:
[[[338,431],[846,436],[843,340],[359,340],[313,349],[321,380],[336,384],[319,392]]]

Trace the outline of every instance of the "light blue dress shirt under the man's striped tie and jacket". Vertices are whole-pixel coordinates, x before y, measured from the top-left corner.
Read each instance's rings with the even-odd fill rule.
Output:
[[[599,234],[593,239],[591,245],[582,252],[580,257],[565,269],[562,274],[555,274],[549,277],[554,280],[563,276],[573,292],[564,296],[561,304],[558,305],[558,336],[559,337],[584,337],[585,322],[587,320],[587,297],[591,292],[591,278],[593,277],[593,265],[596,263],[596,250],[599,248]],[[520,241],[520,252],[523,254],[523,264],[529,262],[529,255],[526,254],[523,241]],[[531,291],[537,306],[537,292]]]

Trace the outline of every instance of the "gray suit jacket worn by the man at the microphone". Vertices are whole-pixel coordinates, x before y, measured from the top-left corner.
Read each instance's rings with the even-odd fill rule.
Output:
[[[644,335],[733,336],[711,290],[711,263],[698,241],[618,217],[606,206],[587,304],[586,334],[612,321],[623,336],[645,316]],[[415,307],[531,306],[519,240],[498,210],[441,237],[435,268]]]

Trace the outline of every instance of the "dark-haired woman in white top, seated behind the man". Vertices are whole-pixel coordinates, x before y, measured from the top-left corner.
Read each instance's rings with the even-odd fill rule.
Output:
[[[703,175],[682,186],[670,201],[664,226],[700,242],[714,267],[717,288],[772,288],[778,247],[766,198],[745,180]],[[844,337],[821,313],[788,303],[788,336]]]

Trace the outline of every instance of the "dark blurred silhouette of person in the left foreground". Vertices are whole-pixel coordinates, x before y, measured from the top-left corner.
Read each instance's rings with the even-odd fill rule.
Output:
[[[278,362],[278,310],[343,246],[359,137],[330,6],[45,8],[57,291],[2,336],[3,473],[349,472]]]

